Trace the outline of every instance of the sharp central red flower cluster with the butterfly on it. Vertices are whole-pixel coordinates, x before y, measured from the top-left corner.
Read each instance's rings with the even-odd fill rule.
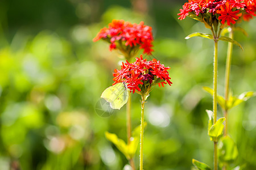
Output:
[[[150,89],[152,86],[158,84],[159,87],[162,84],[169,84],[171,86],[172,82],[170,81],[170,76],[167,70],[170,67],[164,67],[159,61],[155,58],[152,61],[147,61],[141,57],[137,57],[134,63],[122,63],[121,70],[114,70],[113,73],[113,83],[126,83],[129,90],[135,92],[141,91],[142,86],[145,89]],[[167,82],[167,83],[166,83]]]

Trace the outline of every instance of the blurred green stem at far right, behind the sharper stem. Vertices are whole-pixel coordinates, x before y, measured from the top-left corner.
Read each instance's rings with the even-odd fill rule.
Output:
[[[230,39],[233,39],[234,33],[233,30],[229,33]],[[232,59],[232,51],[233,51],[233,43],[228,42],[228,51],[226,54],[226,71],[225,71],[225,103],[228,103],[229,100],[229,76],[230,76],[230,66],[231,66],[231,59]],[[225,104],[225,105],[226,105]],[[226,118],[225,121],[225,129],[224,135],[228,135],[228,109],[225,108],[224,117]]]

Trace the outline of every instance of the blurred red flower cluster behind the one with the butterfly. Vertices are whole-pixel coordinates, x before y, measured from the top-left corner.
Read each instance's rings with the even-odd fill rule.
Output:
[[[109,28],[102,28],[93,41],[100,39],[110,42],[110,50],[116,49],[117,45],[121,45],[122,48],[122,42],[124,42],[125,46],[130,46],[131,48],[139,45],[141,49],[144,49],[143,53],[146,54],[151,54],[153,51],[152,28],[144,25],[143,22],[131,24],[124,20],[114,19],[112,23],[109,23]]]

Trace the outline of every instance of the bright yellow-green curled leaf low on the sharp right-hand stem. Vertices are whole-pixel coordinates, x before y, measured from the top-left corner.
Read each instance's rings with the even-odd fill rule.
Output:
[[[212,125],[212,127],[208,131],[208,135],[210,137],[211,141],[218,142],[218,139],[222,135],[222,131],[224,129],[223,122],[226,120],[226,118],[222,117],[217,120],[217,122]]]

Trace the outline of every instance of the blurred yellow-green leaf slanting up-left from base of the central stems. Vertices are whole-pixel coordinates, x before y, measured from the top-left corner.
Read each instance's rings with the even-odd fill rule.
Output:
[[[128,153],[128,147],[125,141],[123,141],[122,139],[119,139],[116,134],[109,133],[108,131],[105,131],[105,136],[110,142],[114,143],[114,145],[118,148],[118,150],[123,153],[123,155],[126,156],[127,160],[131,159]]]

